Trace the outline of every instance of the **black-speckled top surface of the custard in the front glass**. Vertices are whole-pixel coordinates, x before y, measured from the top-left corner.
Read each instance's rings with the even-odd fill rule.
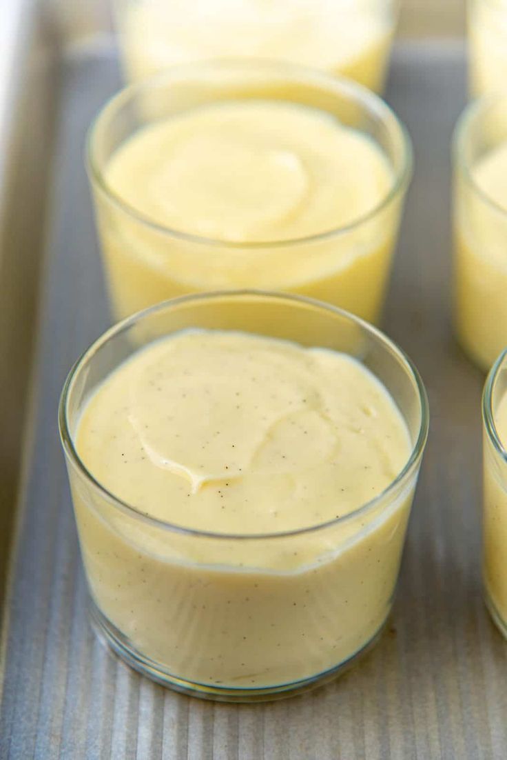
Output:
[[[348,514],[411,449],[392,397],[355,359],[228,331],[135,353],[90,397],[76,445],[96,480],[146,514],[243,534]]]

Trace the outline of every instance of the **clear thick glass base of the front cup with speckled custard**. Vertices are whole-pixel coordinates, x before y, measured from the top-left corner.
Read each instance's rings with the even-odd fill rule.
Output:
[[[351,657],[348,657],[347,660],[344,660],[342,663],[335,665],[335,667],[332,667],[329,670],[323,671],[323,673],[317,673],[316,676],[311,676],[310,678],[301,681],[284,683],[280,686],[266,686],[258,689],[235,689],[227,686],[206,686],[206,684],[186,681],[168,673],[159,663],[150,660],[137,651],[132,646],[131,641],[118,631],[115,625],[105,617],[93,600],[90,600],[90,616],[93,629],[99,639],[112,649],[121,660],[134,668],[134,670],[137,670],[138,673],[159,683],[161,686],[173,689],[175,692],[181,692],[181,694],[186,694],[187,696],[219,702],[274,701],[276,699],[299,695],[303,692],[310,691],[310,689],[316,689],[317,686],[323,686],[323,684],[341,676],[342,673],[345,673],[346,670],[364,657],[364,655],[373,648],[374,644],[376,644],[376,641],[378,641],[382,635],[387,621],[389,620],[388,614],[378,631],[373,635],[370,641],[364,645],[364,647]]]

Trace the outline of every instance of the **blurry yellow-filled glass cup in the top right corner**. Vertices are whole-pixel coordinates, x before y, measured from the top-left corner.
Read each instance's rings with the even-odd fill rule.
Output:
[[[471,97],[505,90],[507,0],[468,0],[467,21]]]

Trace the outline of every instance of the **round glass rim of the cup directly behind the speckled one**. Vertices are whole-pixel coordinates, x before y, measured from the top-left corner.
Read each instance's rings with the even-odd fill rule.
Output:
[[[402,162],[398,171],[393,171],[392,184],[382,200],[376,203],[366,214],[361,214],[360,217],[357,217],[357,219],[352,220],[348,224],[333,227],[331,230],[325,230],[321,233],[313,233],[312,235],[302,237],[256,240],[252,242],[244,240],[225,240],[187,233],[184,232],[184,230],[176,230],[171,226],[157,223],[149,216],[139,211],[135,206],[124,201],[124,199],[121,198],[121,195],[118,195],[118,193],[113,191],[109,186],[109,183],[106,182],[103,171],[104,167],[100,166],[100,162],[97,160],[96,141],[99,129],[113,119],[118,110],[121,109],[125,103],[128,103],[129,100],[136,97],[138,93],[142,93],[143,91],[146,92],[154,87],[162,87],[162,84],[165,83],[170,85],[172,81],[183,81],[185,74],[190,75],[194,72],[206,72],[209,70],[220,71],[222,68],[225,71],[241,71],[241,69],[244,69],[245,71],[250,70],[253,73],[258,71],[260,74],[262,74],[263,71],[265,71],[266,74],[269,74],[271,71],[278,75],[285,74],[287,78],[292,81],[299,80],[314,83],[316,86],[325,87],[330,93],[342,95],[345,93],[345,95],[350,97],[351,100],[355,100],[370,112],[374,112],[383,124],[389,125],[389,129],[394,128],[398,133],[397,138],[402,146]],[[391,123],[389,124],[389,122]],[[119,92],[112,95],[96,114],[87,131],[85,147],[85,164],[91,185],[98,188],[116,208],[128,215],[128,217],[131,217],[131,219],[135,220],[137,223],[140,223],[146,229],[197,245],[240,250],[266,248],[279,249],[290,247],[291,245],[307,245],[350,233],[352,230],[357,229],[357,227],[372,220],[377,214],[380,214],[386,207],[388,207],[395,198],[405,192],[412,176],[413,162],[413,148],[407,128],[386,101],[379,95],[376,95],[376,93],[368,90],[367,87],[363,87],[363,85],[358,84],[351,79],[326,74],[325,71],[319,71],[318,69],[309,68],[303,65],[272,59],[255,58],[218,58],[174,65],[158,74],[143,79],[142,81],[128,84],[126,87],[119,90]]]

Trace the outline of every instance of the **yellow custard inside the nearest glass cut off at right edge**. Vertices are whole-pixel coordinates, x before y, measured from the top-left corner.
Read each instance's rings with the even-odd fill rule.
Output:
[[[495,426],[507,446],[507,394],[495,413]],[[483,575],[489,603],[507,630],[507,461],[500,463],[484,439]]]

